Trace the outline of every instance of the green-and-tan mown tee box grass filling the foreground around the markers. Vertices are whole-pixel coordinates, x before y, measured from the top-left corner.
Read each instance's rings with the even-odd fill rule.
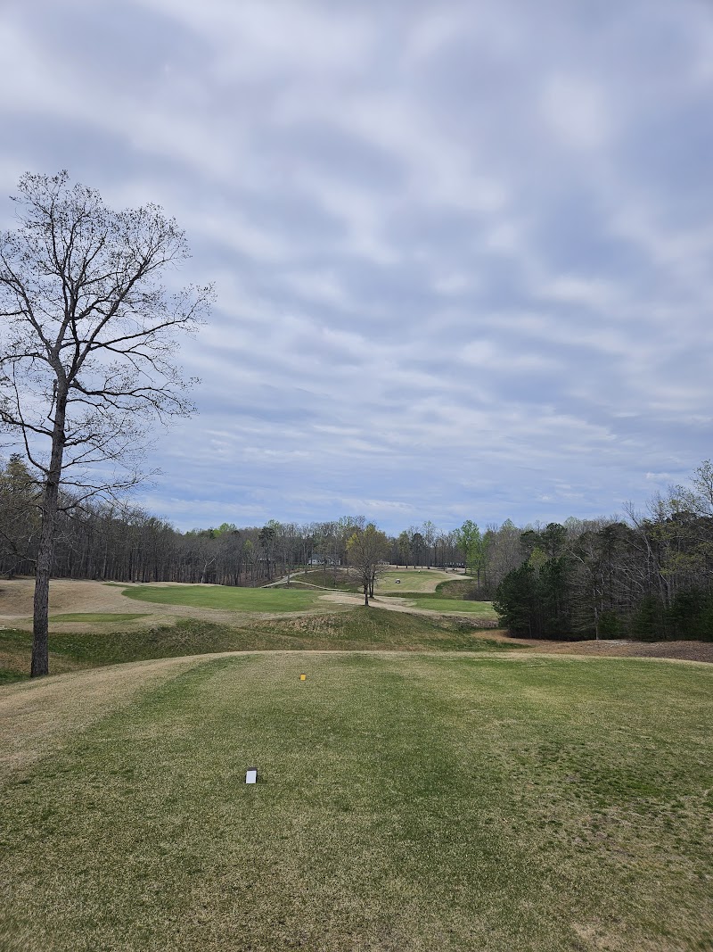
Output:
[[[4,772],[4,950],[711,947],[713,668],[191,664]],[[102,673],[0,704],[84,710]]]

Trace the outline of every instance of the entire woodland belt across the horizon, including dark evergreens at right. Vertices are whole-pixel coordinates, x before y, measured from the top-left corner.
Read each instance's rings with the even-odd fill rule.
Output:
[[[0,573],[34,571],[39,487],[23,459],[0,464]],[[328,584],[349,564],[361,517],[306,525],[221,526],[180,532],[140,507],[80,502],[65,494],[52,575],[117,582],[264,585],[310,565]],[[532,638],[713,639],[713,465],[688,486],[622,518],[449,532],[430,521],[389,538],[388,560],[424,568],[465,566],[472,598],[492,599],[513,635]]]

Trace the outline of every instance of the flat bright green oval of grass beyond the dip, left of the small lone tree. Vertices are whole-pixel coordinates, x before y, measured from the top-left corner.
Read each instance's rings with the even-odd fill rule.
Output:
[[[319,605],[318,591],[285,588],[235,588],[228,585],[140,585],[125,588],[127,598],[153,605],[191,605],[223,611],[309,611]]]

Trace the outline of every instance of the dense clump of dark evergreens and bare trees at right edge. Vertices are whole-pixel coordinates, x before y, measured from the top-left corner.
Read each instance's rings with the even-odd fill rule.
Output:
[[[495,588],[512,634],[713,640],[713,466],[626,519],[568,520],[520,534]]]

